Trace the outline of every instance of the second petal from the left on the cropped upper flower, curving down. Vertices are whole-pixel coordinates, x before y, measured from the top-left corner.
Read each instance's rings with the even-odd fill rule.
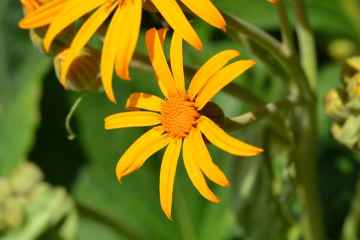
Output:
[[[49,51],[53,39],[68,25],[75,22],[81,16],[99,7],[105,0],[73,0],[51,22],[44,38],[44,48]]]

